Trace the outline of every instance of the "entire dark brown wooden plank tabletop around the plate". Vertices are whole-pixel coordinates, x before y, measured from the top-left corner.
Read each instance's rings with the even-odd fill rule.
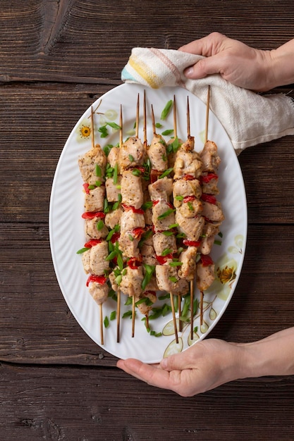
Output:
[[[133,46],[177,49],[219,30],[269,49],[293,38],[293,1],[0,6],[0,439],[294,440],[293,377],[234,381],[185,399],[118,371],[68,310],[48,227],[63,145],[85,109],[121,84]],[[247,251],[212,337],[247,342],[294,324],[293,145],[284,137],[239,157]]]

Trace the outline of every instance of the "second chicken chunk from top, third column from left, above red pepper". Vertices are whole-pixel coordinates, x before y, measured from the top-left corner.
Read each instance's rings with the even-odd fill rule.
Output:
[[[133,175],[132,170],[123,171],[121,178],[122,203],[140,209],[143,204],[143,190],[140,176]]]

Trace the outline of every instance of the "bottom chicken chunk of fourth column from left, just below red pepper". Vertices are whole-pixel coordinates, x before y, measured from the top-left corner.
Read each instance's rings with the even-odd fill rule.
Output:
[[[178,277],[175,267],[167,265],[157,265],[155,267],[157,286],[160,291],[171,294],[186,294],[189,291],[188,281]],[[173,282],[176,280],[176,282]]]

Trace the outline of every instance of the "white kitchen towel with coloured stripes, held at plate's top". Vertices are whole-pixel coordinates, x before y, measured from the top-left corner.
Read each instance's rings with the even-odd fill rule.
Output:
[[[123,82],[157,89],[184,87],[204,103],[211,86],[211,110],[226,129],[233,147],[240,153],[246,147],[294,135],[294,102],[284,94],[257,94],[232,85],[221,75],[189,80],[183,74],[202,56],[173,49],[136,47],[121,73]]]

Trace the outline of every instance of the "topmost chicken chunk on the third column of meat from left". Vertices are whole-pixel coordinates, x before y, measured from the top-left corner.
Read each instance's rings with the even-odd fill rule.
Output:
[[[120,148],[119,164],[121,170],[142,166],[145,159],[145,148],[140,138],[128,138]]]

